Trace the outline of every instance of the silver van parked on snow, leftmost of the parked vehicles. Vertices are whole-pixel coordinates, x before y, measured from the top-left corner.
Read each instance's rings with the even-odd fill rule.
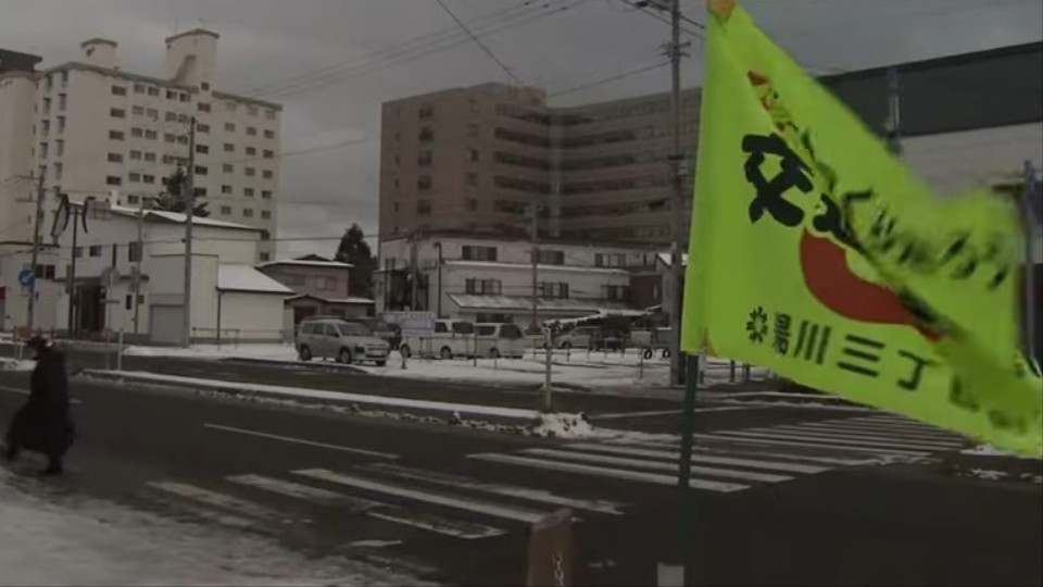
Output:
[[[351,364],[372,361],[377,366],[388,363],[390,346],[373,336],[369,328],[341,319],[305,320],[297,336],[297,354],[301,361],[335,359]]]

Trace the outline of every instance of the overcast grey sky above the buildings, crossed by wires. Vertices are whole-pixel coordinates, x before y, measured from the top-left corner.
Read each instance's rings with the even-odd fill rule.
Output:
[[[669,34],[666,24],[624,0],[444,2],[476,33],[490,32],[483,41],[518,78],[550,92],[654,64],[663,59],[659,45]],[[1040,0],[743,4],[776,41],[817,72],[1043,38]],[[682,0],[682,7],[688,17],[704,21],[705,0]],[[352,222],[376,230],[379,142],[374,137],[382,101],[507,80],[474,41],[461,37],[436,0],[0,0],[0,47],[40,54],[45,66],[76,60],[80,41],[105,37],[120,43],[125,70],[159,76],[163,38],[197,26],[221,34],[219,89],[259,92],[285,104],[284,152],[341,145],[282,160],[280,239],[336,237]],[[684,84],[698,85],[702,43],[688,37],[692,59]],[[447,48],[452,42],[458,45]],[[668,68],[653,70],[564,93],[555,103],[658,91],[667,88],[668,76]],[[312,85],[302,86],[301,78]],[[348,142],[354,143],[342,145]],[[331,254],[335,247],[332,240],[284,241],[280,253]]]

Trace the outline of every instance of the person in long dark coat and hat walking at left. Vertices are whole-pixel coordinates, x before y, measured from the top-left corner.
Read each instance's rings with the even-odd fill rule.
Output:
[[[28,347],[36,353],[36,369],[29,379],[29,399],[14,414],[8,430],[7,457],[14,461],[22,449],[42,452],[48,462],[40,473],[58,475],[73,444],[65,355],[41,337],[29,340]]]

